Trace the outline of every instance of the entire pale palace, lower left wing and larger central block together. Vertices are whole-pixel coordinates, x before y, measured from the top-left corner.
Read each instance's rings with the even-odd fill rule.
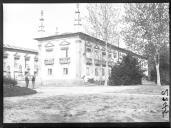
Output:
[[[108,73],[112,66],[126,54],[138,58],[141,68],[148,75],[148,62],[143,56],[107,44],[82,32],[64,33],[42,38],[38,41],[38,51],[4,45],[4,74],[15,79],[23,79],[24,73],[37,73],[41,83],[58,81],[79,82],[84,78],[105,80],[106,60]]]

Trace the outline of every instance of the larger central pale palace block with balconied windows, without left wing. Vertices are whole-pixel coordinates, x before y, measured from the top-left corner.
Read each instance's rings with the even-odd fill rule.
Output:
[[[85,33],[66,33],[36,38],[39,44],[40,77],[42,80],[105,80],[106,43]],[[126,54],[138,58],[148,75],[145,57],[131,51],[108,46],[108,72]]]

